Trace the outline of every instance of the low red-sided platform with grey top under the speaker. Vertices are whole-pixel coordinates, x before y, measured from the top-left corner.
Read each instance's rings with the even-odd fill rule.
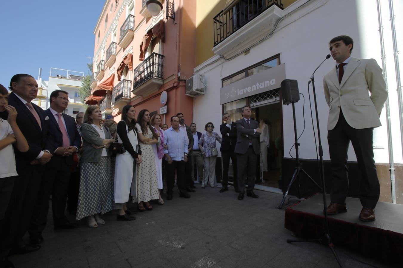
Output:
[[[327,196],[327,204],[330,196]],[[330,236],[343,245],[382,262],[403,262],[403,205],[378,202],[376,221],[359,221],[362,209],[357,198],[347,198],[347,213],[329,215]],[[315,194],[285,211],[285,228],[300,237],[319,238],[324,232],[322,194]],[[309,243],[309,242],[307,242]]]

